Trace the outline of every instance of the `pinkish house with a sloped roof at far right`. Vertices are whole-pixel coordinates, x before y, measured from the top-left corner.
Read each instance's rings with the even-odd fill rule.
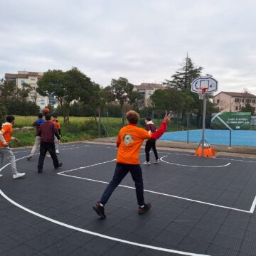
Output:
[[[213,103],[223,112],[239,112],[247,103],[256,110],[256,96],[248,92],[219,92]]]

